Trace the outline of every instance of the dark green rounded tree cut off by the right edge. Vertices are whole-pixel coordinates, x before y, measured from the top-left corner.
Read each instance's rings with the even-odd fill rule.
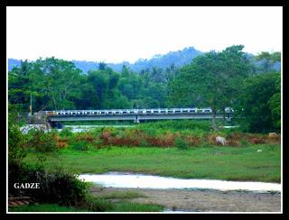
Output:
[[[280,73],[272,72],[244,80],[236,114],[248,132],[280,131]]]

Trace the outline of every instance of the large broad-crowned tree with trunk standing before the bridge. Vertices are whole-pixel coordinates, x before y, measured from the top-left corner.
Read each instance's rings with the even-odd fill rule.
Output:
[[[172,82],[172,103],[212,109],[212,127],[216,131],[218,110],[232,105],[238,93],[238,83],[251,71],[244,46],[231,46],[221,52],[210,51],[180,69]]]

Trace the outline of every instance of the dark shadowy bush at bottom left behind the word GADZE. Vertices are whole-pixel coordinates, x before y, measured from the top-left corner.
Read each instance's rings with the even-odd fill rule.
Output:
[[[10,197],[32,197],[40,203],[74,206],[88,194],[87,184],[77,176],[65,173],[47,173],[42,166],[9,163],[8,192]],[[39,189],[17,189],[14,183],[40,183]]]

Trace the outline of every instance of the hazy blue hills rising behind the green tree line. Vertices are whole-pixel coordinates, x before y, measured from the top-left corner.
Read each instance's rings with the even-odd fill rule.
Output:
[[[175,67],[181,67],[185,64],[191,63],[191,60],[196,56],[202,54],[200,50],[195,50],[193,47],[185,48],[183,50],[171,51],[163,55],[154,55],[152,59],[144,60],[140,59],[131,64],[129,62],[122,63],[107,63],[107,66],[120,72],[123,65],[135,72],[140,72],[142,69],[153,69],[158,68],[168,68],[172,64]],[[85,60],[72,60],[78,69],[81,69],[83,73],[87,73],[89,69],[98,69],[98,62],[85,61]],[[13,69],[14,66],[20,66],[20,60],[9,59],[8,60],[8,70]]]

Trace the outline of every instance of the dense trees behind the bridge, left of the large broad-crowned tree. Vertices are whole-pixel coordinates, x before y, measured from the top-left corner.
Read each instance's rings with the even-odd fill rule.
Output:
[[[136,74],[126,66],[120,73],[106,65],[80,74],[72,62],[54,58],[22,62],[9,72],[9,103],[33,112],[53,109],[164,107],[167,82],[176,69],[153,69]],[[163,78],[163,76],[166,78]],[[172,76],[172,77],[171,77]]]

